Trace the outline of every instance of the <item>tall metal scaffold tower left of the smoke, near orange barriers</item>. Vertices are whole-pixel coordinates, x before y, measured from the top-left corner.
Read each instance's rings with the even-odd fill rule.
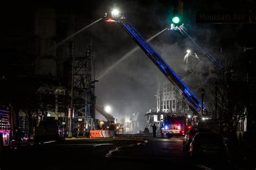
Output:
[[[69,136],[86,136],[94,127],[95,120],[95,53],[92,44],[83,55],[75,54],[75,46],[69,44],[70,51],[70,109]],[[71,114],[72,113],[72,114]]]

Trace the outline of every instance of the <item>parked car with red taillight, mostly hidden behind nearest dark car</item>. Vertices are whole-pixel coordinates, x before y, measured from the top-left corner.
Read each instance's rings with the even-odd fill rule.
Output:
[[[183,140],[183,151],[187,152],[190,147],[191,141],[197,133],[213,133],[213,131],[209,128],[201,128],[198,126],[192,126],[187,130],[187,133]]]

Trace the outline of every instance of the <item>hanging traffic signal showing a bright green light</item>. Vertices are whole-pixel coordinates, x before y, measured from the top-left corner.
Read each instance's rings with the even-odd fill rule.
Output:
[[[180,0],[173,1],[172,23],[176,26],[182,24],[183,5]]]

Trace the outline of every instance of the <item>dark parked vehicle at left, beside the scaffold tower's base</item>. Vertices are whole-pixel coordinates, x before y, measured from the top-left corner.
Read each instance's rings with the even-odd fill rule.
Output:
[[[64,126],[55,119],[41,121],[35,128],[35,144],[43,143],[45,141],[57,140],[58,142],[65,141]]]

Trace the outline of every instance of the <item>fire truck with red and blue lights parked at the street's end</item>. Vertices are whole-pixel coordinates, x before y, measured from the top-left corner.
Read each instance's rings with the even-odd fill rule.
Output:
[[[161,133],[171,138],[184,136],[186,130],[186,116],[166,115],[162,122]]]

